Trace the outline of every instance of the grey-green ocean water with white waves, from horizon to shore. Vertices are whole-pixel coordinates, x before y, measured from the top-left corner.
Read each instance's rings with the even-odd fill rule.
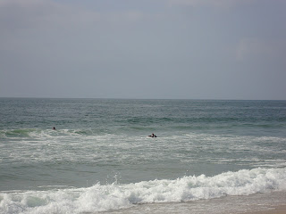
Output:
[[[0,213],[240,213],[285,199],[286,101],[0,98]]]

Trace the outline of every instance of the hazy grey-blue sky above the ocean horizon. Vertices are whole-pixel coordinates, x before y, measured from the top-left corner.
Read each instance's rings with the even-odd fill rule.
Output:
[[[0,0],[0,97],[286,100],[285,0]]]

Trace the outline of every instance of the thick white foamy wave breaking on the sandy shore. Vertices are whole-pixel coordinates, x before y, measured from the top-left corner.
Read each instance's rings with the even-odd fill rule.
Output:
[[[286,190],[286,169],[243,169],[214,177],[142,181],[129,185],[0,193],[0,213],[82,213],[127,208],[138,203],[186,202],[226,195]]]

